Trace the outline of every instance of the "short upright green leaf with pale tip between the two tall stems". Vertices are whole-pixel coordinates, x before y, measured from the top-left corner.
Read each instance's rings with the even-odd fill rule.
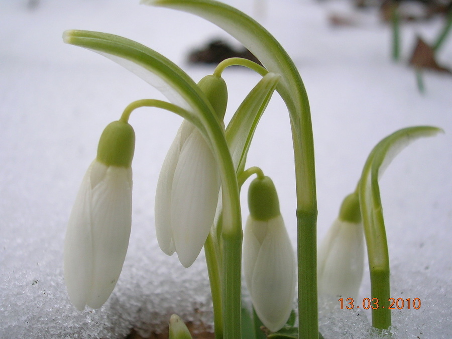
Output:
[[[267,73],[247,95],[226,129],[226,140],[238,175],[245,168],[248,150],[257,124],[279,79],[280,76]]]

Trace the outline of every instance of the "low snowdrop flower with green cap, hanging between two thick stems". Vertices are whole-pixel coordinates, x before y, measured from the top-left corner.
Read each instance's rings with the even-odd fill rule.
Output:
[[[295,293],[295,257],[269,177],[254,179],[244,242],[245,281],[262,323],[272,332],[287,322]]]

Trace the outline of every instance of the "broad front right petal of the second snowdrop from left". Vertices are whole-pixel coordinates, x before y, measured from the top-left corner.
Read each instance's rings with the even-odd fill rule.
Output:
[[[210,148],[195,129],[183,143],[171,191],[171,225],[179,261],[189,267],[215,217],[220,178]]]

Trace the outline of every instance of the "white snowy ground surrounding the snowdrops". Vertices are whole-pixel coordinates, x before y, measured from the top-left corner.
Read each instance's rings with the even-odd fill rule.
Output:
[[[162,96],[109,60],[64,45],[61,35],[66,29],[85,29],[128,37],[166,55],[196,81],[213,69],[186,64],[187,51],[228,36],[202,19],[139,6],[138,1],[27,3],[0,2],[0,337],[122,338],[132,328],[150,335],[174,312],[185,320],[211,323],[203,256],[183,269],[176,256],[161,253],[155,239],[157,176],[180,118],[151,109],[135,112],[130,121],[137,135],[133,227],[117,287],[99,310],[78,312],[69,303],[63,238],[100,133],[131,101]],[[228,3],[252,16],[257,13],[251,1]],[[422,301],[419,310],[393,313],[395,337],[452,337],[452,77],[427,72],[427,92],[419,94],[412,69],[391,62],[389,30],[375,13],[360,13],[358,27],[333,28],[328,14],[350,13],[347,3],[265,3],[267,14],[257,19],[292,56],[310,98],[319,239],[380,139],[413,125],[445,130],[403,151],[382,178],[381,192],[393,296]],[[439,27],[438,21],[405,26],[404,59],[417,33],[431,41]],[[452,39],[439,59],[452,67]],[[259,76],[231,69],[224,78],[231,97],[228,118]],[[291,159],[288,115],[275,95],[248,164],[260,166],[275,181],[295,238]],[[369,296],[367,277],[363,298]],[[369,337],[369,322],[360,315],[324,311],[320,328],[325,339]]]

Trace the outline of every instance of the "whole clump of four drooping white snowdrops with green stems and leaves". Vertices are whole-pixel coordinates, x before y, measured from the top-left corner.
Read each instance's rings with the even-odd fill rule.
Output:
[[[319,337],[317,282],[320,291],[328,294],[349,297],[357,293],[363,270],[363,225],[371,296],[382,304],[388,300],[389,255],[378,178],[409,142],[440,130],[428,126],[403,129],[372,150],[357,191],[344,202],[319,250],[317,279],[314,143],[306,90],[293,61],[269,32],[228,5],[214,0],[143,0],[143,3],[191,12],[217,24],[242,42],[263,66],[231,58],[196,84],[170,60],[132,40],[99,32],[64,33],[65,42],[110,58],[154,85],[171,101],[135,101],[126,108],[121,121],[109,125],[102,134],[97,158],[88,169],[74,204],[65,241],[65,279],[75,306],[100,307],[121,272],[131,227],[134,138],[127,120],[133,109],[142,106],[163,108],[185,119],[159,177],[156,232],[161,249],[169,255],[177,252],[185,267],[194,262],[204,246],[215,337],[238,339],[244,333],[242,260],[254,309],[264,325],[272,332],[282,328],[275,334],[278,337],[286,334]],[[248,67],[262,79],[224,129],[227,90],[220,75],[232,65]],[[253,135],[274,90],[286,103],[293,137],[298,327],[287,321],[294,299],[296,271],[276,189],[262,173],[244,170]],[[250,216],[242,244],[240,187],[250,173],[258,177],[250,185]],[[220,185],[221,203],[218,203]],[[374,327],[391,326],[390,310],[384,306],[373,309]],[[172,320],[179,327],[177,318]],[[251,327],[246,326],[245,330]],[[180,333],[182,337],[187,334]]]

